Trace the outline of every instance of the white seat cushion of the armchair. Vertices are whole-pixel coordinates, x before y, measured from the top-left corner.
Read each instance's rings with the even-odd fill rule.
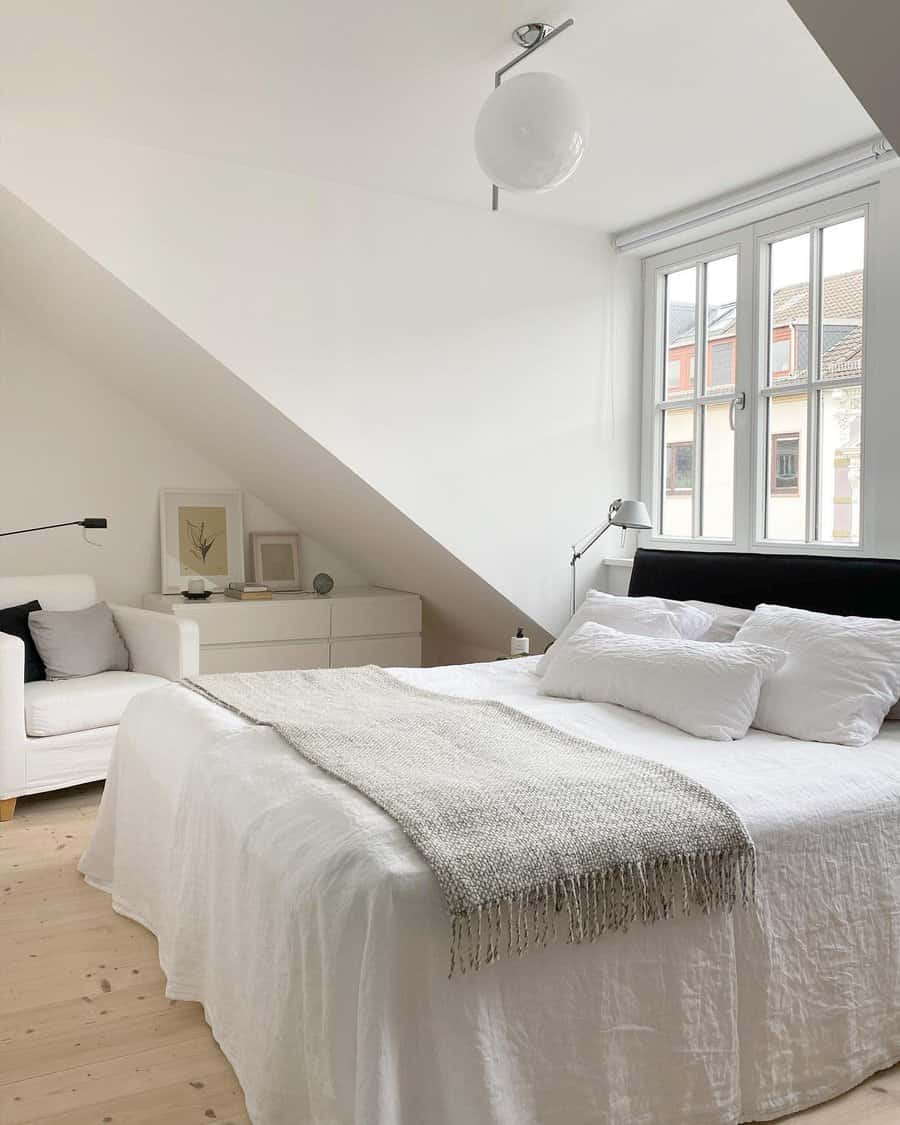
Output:
[[[45,680],[25,685],[25,732],[29,738],[115,727],[140,692],[169,683],[141,672]]]

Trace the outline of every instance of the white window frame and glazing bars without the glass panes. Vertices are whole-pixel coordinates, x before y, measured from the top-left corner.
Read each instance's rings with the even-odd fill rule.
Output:
[[[806,232],[809,227],[821,224],[831,226],[847,219],[865,216],[865,274],[863,284],[863,377],[862,379],[813,380],[811,386],[834,387],[871,381],[871,372],[866,371],[865,359],[868,351],[868,336],[872,323],[872,303],[870,300],[871,268],[871,232],[873,210],[875,206],[875,189],[863,188],[842,196],[824,199],[819,202],[749,224],[736,231],[729,231],[710,238],[694,242],[677,250],[666,251],[647,258],[644,261],[644,425],[641,432],[641,495],[650,507],[652,530],[645,533],[645,540],[650,546],[685,550],[734,550],[759,551],[768,554],[790,555],[863,555],[865,544],[871,541],[872,528],[870,513],[872,505],[866,503],[866,494],[871,488],[870,475],[866,471],[866,432],[868,430],[868,411],[866,392],[863,392],[863,415],[861,421],[861,464],[863,466],[862,488],[860,495],[860,541],[858,543],[832,543],[821,541],[800,542],[796,540],[781,541],[765,538],[766,494],[768,487],[768,452],[766,406],[772,397],[768,380],[768,246],[792,234]],[[818,253],[820,238],[811,238],[816,243],[813,251]],[[735,351],[735,393],[734,395],[705,395],[703,379],[705,375],[705,333],[696,341],[695,356],[695,396],[691,399],[673,400],[665,404],[665,340],[660,325],[665,324],[665,277],[680,269],[690,269],[701,262],[713,261],[730,254],[738,258],[738,304],[736,320]],[[814,276],[814,272],[811,274]],[[701,289],[700,284],[698,289]],[[705,300],[698,292],[698,321],[704,327]],[[818,349],[818,315],[813,313],[810,325],[810,348]],[[813,330],[816,343],[813,345]],[[810,367],[810,370],[812,368]],[[806,385],[804,385],[806,389]],[[735,500],[734,500],[734,534],[730,539],[704,537],[700,538],[700,520],[703,505],[703,461],[702,461],[702,406],[705,402],[734,400],[732,416],[735,425]],[[666,408],[672,408],[681,402],[696,408],[694,426],[694,497],[693,497],[693,534],[691,537],[664,536],[659,532],[662,525],[662,504],[665,486],[662,474],[665,471],[665,451],[663,449],[663,421]],[[809,415],[816,412],[818,396],[808,397]],[[699,407],[699,408],[698,408]],[[818,417],[814,421],[808,415],[808,457],[807,457],[807,533],[817,533],[818,480],[816,458],[818,457]]]

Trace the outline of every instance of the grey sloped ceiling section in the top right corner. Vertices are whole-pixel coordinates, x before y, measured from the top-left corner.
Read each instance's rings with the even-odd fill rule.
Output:
[[[900,150],[900,3],[790,2],[881,132]]]

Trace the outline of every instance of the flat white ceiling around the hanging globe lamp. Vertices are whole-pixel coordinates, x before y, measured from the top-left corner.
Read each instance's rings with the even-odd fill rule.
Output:
[[[526,19],[579,88],[582,169],[504,207],[613,231],[878,129],[786,0],[0,0],[19,123],[489,204],[471,130]]]

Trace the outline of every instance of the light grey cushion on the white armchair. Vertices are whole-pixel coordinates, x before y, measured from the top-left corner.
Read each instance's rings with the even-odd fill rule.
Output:
[[[47,680],[127,672],[128,649],[106,602],[87,610],[40,610],[28,618]]]

